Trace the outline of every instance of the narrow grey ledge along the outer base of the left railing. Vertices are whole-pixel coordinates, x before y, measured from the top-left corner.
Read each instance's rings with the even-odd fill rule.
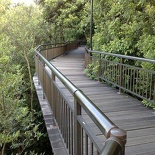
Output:
[[[33,82],[40,103],[52,151],[54,155],[68,155],[58,126],[52,125],[52,123],[54,122],[53,112],[47,99],[43,98],[43,88],[41,85],[38,84],[38,77],[36,75],[34,75],[33,77]]]

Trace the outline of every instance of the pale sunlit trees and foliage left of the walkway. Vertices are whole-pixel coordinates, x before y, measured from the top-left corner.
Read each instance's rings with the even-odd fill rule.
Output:
[[[24,154],[40,137],[34,108],[33,49],[49,41],[38,7],[10,5],[0,0],[0,149],[1,154]],[[31,150],[29,150],[31,148]],[[29,151],[28,151],[28,150]],[[36,148],[35,148],[36,150]],[[41,150],[42,151],[42,150]],[[39,151],[38,151],[39,152]]]

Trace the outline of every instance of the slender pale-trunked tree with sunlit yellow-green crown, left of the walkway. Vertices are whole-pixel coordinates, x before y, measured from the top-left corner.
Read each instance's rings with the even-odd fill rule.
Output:
[[[2,28],[3,32],[9,36],[9,40],[14,47],[14,51],[12,52],[14,63],[21,64],[23,72],[28,73],[25,74],[28,77],[24,77],[24,79],[26,80],[25,85],[27,85],[27,88],[29,88],[30,84],[31,110],[33,109],[32,51],[36,45],[35,37],[39,34],[39,29],[37,28],[40,22],[37,19],[40,13],[39,11],[35,11],[35,8],[27,6],[16,6],[12,8],[4,16],[6,22]]]

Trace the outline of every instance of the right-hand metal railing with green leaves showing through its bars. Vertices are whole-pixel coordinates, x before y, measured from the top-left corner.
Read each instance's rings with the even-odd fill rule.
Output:
[[[119,93],[127,92],[155,106],[155,60],[86,49],[85,67],[99,81],[118,87]]]

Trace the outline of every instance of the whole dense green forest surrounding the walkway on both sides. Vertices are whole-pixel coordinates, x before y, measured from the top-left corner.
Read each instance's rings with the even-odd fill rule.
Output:
[[[94,0],[93,12],[93,49],[155,59],[154,0]],[[32,81],[34,49],[79,39],[89,46],[89,38],[90,0],[0,0],[2,155],[51,153]]]

